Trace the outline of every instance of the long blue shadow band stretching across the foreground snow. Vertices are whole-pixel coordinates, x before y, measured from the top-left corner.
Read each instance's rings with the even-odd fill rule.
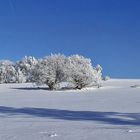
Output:
[[[10,117],[14,115],[30,115],[33,117],[71,121],[97,121],[113,125],[140,125],[140,113],[71,111],[48,108],[13,108],[0,106],[0,117]]]

